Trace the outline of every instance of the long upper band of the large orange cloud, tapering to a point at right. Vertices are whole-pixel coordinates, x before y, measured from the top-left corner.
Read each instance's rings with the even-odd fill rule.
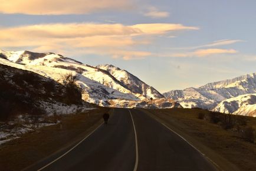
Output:
[[[199,29],[186,27],[182,24],[41,24],[14,28],[0,28],[0,38],[9,37],[41,37],[41,38],[76,38],[100,35],[142,35],[166,34],[170,31]]]

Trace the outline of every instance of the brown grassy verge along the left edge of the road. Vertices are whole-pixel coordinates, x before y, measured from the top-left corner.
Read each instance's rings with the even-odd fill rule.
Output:
[[[79,142],[100,123],[105,108],[67,115],[60,124],[42,127],[0,146],[0,170],[21,170]]]

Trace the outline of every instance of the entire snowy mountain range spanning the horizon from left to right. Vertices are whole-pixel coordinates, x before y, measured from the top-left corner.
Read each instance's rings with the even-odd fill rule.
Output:
[[[253,107],[250,107],[250,112],[248,112],[248,108],[244,107],[248,106],[247,104],[252,105],[251,103],[254,102],[251,100],[249,100],[250,103],[241,101],[248,100],[243,95],[249,97],[250,94],[256,93],[256,73],[208,83],[198,88],[189,87],[185,90],[172,90],[161,94],[135,75],[114,65],[106,64],[94,67],[50,52],[0,50],[0,63],[32,71],[61,84],[63,84],[64,74],[79,75],[78,84],[84,89],[83,100],[99,106],[199,107],[225,113],[255,116]],[[237,101],[236,105],[233,101]]]

